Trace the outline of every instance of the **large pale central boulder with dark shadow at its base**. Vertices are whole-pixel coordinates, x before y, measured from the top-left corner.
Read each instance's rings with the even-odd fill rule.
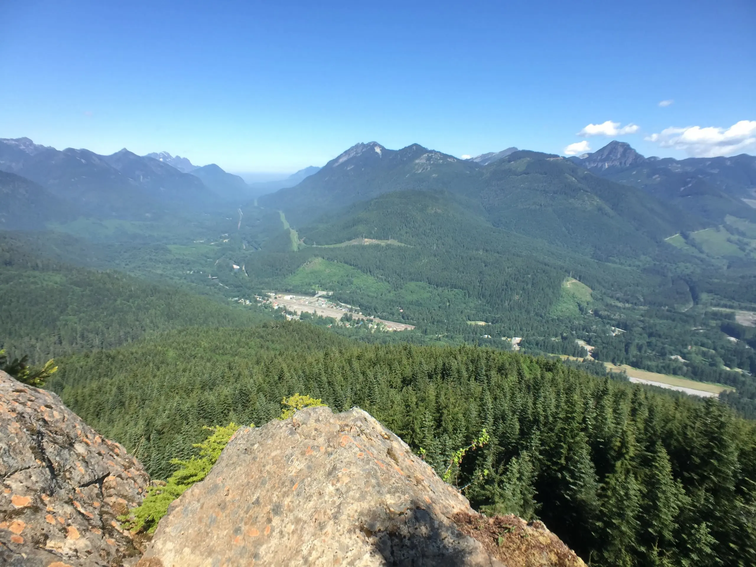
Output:
[[[138,567],[584,565],[540,522],[489,519],[359,409],[240,429]]]

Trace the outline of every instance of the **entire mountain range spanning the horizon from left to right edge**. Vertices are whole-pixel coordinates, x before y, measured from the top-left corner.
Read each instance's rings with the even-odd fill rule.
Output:
[[[29,211],[5,212],[7,228],[38,226],[45,218],[70,215],[150,218],[173,209],[242,206],[262,191],[280,187],[259,195],[259,205],[282,211],[302,236],[314,231],[321,242],[331,243],[322,240],[324,227],[336,223],[340,228],[334,225],[334,234],[345,237],[349,206],[385,194],[420,191],[454,203],[483,225],[595,259],[616,260],[652,255],[677,233],[732,218],[756,220],[756,209],[748,204],[756,204],[753,156],[646,158],[618,141],[579,157],[510,147],[467,160],[420,144],[389,150],[372,141],[355,144],[320,169],[246,184],[215,164],[198,167],[167,152],[138,156],[123,149],[101,156],[17,138],[0,139],[0,170],[29,181],[0,178],[0,191],[14,194],[12,208]],[[415,205],[424,198],[414,198]],[[390,203],[392,199],[382,201],[382,215]],[[404,206],[401,199],[394,203]],[[364,236],[358,227],[366,226],[369,210],[369,204],[361,208],[361,221],[353,223],[350,239]],[[392,225],[373,224],[371,238]]]

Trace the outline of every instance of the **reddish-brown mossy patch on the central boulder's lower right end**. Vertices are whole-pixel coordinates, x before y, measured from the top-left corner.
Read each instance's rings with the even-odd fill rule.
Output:
[[[543,522],[525,522],[518,516],[451,516],[463,534],[479,541],[504,565],[584,566],[580,557],[547,530]]]

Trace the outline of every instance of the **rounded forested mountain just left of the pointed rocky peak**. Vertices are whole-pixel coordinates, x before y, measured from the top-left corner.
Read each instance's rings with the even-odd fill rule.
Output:
[[[518,151],[482,170],[481,201],[499,227],[620,260],[652,253],[701,219],[627,185],[608,182],[567,160]]]

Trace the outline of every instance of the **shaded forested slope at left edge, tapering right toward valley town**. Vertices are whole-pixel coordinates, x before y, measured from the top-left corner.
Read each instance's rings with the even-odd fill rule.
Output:
[[[203,324],[249,326],[258,311],[115,271],[39,256],[0,233],[0,349],[35,361],[108,349],[146,333]]]

